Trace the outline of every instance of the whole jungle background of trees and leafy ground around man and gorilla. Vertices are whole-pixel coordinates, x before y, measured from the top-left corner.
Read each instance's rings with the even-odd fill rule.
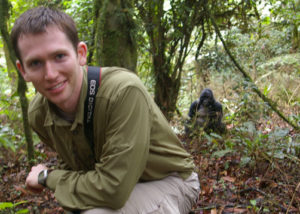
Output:
[[[36,92],[9,39],[40,5],[75,20],[88,64],[142,79],[193,155],[201,192],[191,213],[300,213],[299,0],[0,0],[0,213],[63,213],[53,192],[25,187],[32,165],[57,163],[29,127]],[[187,134],[205,88],[226,131]]]

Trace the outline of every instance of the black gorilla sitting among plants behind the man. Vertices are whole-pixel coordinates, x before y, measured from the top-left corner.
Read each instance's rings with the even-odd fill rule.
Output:
[[[213,92],[209,88],[204,89],[199,99],[191,104],[188,116],[189,120],[185,126],[187,135],[199,128],[203,128],[208,134],[211,132],[222,134],[226,130],[222,123],[222,105],[215,100]]]

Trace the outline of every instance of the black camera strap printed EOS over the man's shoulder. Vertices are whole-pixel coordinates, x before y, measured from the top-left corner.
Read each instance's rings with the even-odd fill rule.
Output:
[[[88,66],[87,72],[88,89],[84,102],[84,133],[94,153],[93,120],[96,94],[101,83],[101,67]]]

